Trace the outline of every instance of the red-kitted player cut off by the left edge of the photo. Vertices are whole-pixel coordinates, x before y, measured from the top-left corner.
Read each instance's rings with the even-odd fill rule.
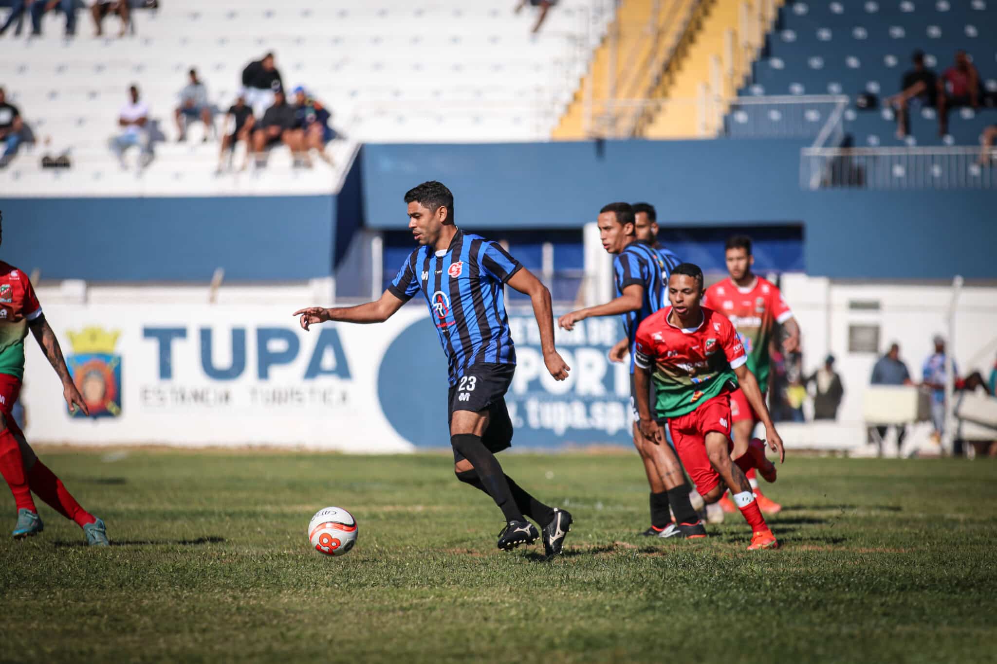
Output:
[[[0,244],[3,243],[3,216],[0,215]],[[21,394],[24,378],[24,337],[34,334],[42,352],[63,382],[63,397],[71,412],[77,408],[90,414],[87,403],[70,377],[55,332],[49,327],[42,306],[28,276],[0,261],[0,474],[7,481],[17,506],[15,540],[38,535],[44,530],[38,508],[31,497],[35,492],[53,510],[77,523],[92,547],[107,547],[104,522],[76,502],[62,480],[35,455],[14,421],[14,403]]]

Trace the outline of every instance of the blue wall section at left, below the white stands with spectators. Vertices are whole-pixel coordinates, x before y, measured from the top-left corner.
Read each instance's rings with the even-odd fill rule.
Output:
[[[0,256],[44,279],[231,281],[332,274],[335,196],[0,200]]]

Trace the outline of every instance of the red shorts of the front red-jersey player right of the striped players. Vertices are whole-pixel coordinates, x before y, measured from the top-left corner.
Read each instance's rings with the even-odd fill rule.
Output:
[[[720,484],[720,474],[713,469],[706,454],[706,434],[717,431],[727,436],[731,443],[731,395],[721,392],[701,403],[696,410],[668,419],[675,451],[682,459],[689,477],[696,484],[696,491],[707,494]]]

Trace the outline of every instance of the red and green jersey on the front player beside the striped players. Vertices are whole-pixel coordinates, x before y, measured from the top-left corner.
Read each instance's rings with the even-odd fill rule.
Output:
[[[703,308],[703,320],[690,329],[668,322],[667,307],[637,328],[634,363],[652,369],[655,414],[678,417],[725,389],[737,388],[734,369],[748,361],[738,332],[723,314]]]

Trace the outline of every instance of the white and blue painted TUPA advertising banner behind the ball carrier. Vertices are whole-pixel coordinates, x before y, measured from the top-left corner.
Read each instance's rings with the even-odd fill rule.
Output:
[[[381,325],[305,332],[295,305],[51,305],[90,417],[71,416],[29,336],[22,401],[36,442],[267,445],[395,453],[449,447],[446,357],[422,306]],[[626,364],[615,319],[557,331],[570,377],[554,381],[531,312],[510,314],[513,445],[628,444]]]

